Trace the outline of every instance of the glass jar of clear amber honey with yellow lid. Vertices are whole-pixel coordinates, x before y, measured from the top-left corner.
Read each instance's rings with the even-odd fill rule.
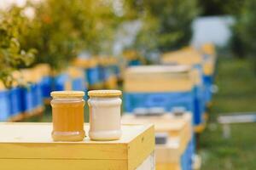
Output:
[[[55,91],[52,107],[53,131],[55,141],[81,141],[84,139],[84,92]]]

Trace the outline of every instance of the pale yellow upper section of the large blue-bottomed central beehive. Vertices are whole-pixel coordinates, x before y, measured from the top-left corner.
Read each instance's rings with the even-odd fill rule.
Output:
[[[189,91],[193,86],[189,65],[132,66],[125,71],[125,92]]]

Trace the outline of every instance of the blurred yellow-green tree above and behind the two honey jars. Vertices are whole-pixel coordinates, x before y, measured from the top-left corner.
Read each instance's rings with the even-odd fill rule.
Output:
[[[45,0],[30,3],[35,16],[31,31],[20,39],[26,48],[37,48],[36,63],[65,68],[81,50],[90,54],[109,52],[116,15],[112,4],[102,0]]]

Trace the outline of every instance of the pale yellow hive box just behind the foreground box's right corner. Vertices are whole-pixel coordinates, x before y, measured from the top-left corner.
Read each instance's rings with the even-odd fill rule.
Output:
[[[123,123],[154,123],[155,133],[168,133],[169,139],[166,144],[156,144],[156,169],[157,170],[180,170],[181,156],[187,149],[192,139],[191,114],[173,116],[134,116],[124,115]]]

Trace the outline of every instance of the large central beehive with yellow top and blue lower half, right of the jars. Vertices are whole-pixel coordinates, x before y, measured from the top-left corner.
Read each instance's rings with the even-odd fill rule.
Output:
[[[183,107],[193,113],[194,125],[203,121],[200,106],[195,108],[195,78],[192,69],[186,65],[134,66],[125,71],[125,111],[134,112],[138,108],[162,108],[172,111]]]

